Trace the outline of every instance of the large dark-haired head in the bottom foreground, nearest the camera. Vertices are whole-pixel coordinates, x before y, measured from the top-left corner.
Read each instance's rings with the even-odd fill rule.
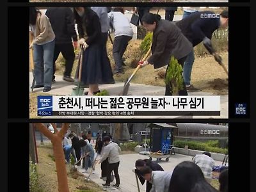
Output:
[[[169,192],[217,192],[217,190],[205,180],[204,173],[198,165],[191,161],[183,161],[173,170]]]

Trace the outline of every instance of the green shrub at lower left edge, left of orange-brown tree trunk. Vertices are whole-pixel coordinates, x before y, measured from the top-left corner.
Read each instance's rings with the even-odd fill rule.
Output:
[[[36,165],[29,161],[29,191],[42,192],[42,188],[38,183],[38,173],[36,171]]]

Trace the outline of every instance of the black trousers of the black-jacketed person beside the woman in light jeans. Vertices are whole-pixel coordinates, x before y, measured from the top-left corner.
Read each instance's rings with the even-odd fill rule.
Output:
[[[72,43],[68,44],[55,44],[54,56],[53,56],[53,68],[52,68],[52,79],[55,79],[55,70],[56,70],[56,60],[58,59],[59,54],[62,54],[65,62],[65,72],[64,76],[70,76],[75,60],[75,52]]]

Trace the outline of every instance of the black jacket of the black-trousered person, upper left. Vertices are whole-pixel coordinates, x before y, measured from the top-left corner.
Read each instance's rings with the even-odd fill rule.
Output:
[[[73,12],[70,8],[52,7],[47,9],[45,15],[51,22],[56,44],[70,44],[71,39],[77,41]]]

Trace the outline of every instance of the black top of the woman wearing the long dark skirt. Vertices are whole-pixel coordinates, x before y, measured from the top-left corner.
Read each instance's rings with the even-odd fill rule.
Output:
[[[76,13],[77,14],[77,13]],[[85,42],[88,45],[99,43],[102,40],[100,20],[97,13],[86,8],[83,17],[76,16],[79,38],[86,36]]]

